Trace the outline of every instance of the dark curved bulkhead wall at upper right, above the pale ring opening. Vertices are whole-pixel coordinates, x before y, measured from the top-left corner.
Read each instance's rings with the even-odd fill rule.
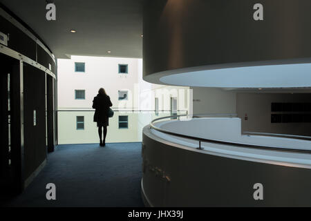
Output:
[[[160,78],[194,70],[309,63],[311,1],[261,3],[264,20],[254,21],[248,0],[147,1],[143,78],[176,85]]]

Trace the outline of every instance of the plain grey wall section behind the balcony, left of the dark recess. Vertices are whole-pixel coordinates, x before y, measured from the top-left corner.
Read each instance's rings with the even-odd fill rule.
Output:
[[[194,114],[236,113],[236,92],[220,88],[191,88],[194,93]]]

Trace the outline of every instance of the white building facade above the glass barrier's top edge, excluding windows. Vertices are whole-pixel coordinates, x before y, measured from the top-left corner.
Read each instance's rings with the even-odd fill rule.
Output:
[[[187,110],[189,87],[150,84],[142,79],[142,59],[119,57],[72,56],[58,59],[58,107],[91,108],[93,97],[103,87],[111,97],[113,108],[155,110],[159,97],[160,110],[170,109],[170,97],[180,97],[178,107]],[[85,62],[85,73],[75,73],[75,62]],[[128,64],[129,73],[119,74],[118,64]],[[85,90],[86,99],[75,99],[75,90]],[[129,90],[128,101],[119,101],[118,90]]]

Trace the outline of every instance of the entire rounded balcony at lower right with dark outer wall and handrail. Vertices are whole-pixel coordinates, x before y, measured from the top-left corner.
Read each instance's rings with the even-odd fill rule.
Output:
[[[149,206],[310,206],[311,137],[241,133],[234,115],[180,115],[143,129]],[[255,184],[263,200],[255,200]],[[254,187],[255,186],[255,187]]]

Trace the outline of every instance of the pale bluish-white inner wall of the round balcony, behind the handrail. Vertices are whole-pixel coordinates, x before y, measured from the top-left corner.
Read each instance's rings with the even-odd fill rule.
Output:
[[[238,117],[205,117],[186,121],[160,122],[157,125],[167,131],[209,140],[220,140],[238,144],[270,146],[276,148],[311,150],[311,142],[308,140],[242,135],[241,119]]]

